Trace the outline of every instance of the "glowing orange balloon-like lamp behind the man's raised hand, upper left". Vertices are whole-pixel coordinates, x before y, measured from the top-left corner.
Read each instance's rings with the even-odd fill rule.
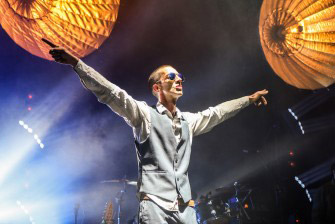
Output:
[[[45,38],[81,58],[110,35],[119,5],[120,0],[1,0],[0,24],[33,55],[53,60]]]

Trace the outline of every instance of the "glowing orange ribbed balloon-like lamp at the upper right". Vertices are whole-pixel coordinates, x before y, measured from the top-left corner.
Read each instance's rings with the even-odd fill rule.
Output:
[[[264,0],[261,45],[274,72],[300,89],[335,83],[335,1]]]

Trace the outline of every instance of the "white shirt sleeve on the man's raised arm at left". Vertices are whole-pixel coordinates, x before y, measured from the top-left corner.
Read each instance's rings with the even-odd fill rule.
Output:
[[[106,104],[112,111],[123,117],[127,124],[134,128],[134,134],[140,139],[145,138],[150,125],[150,112],[145,102],[133,99],[126,91],[109,82],[81,60],[74,70],[79,75],[83,86],[92,91],[99,102]]]

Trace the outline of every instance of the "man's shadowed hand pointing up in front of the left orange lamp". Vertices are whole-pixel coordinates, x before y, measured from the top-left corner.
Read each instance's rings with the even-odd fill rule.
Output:
[[[66,65],[72,65],[73,67],[77,65],[79,59],[76,56],[72,55],[64,48],[56,46],[55,44],[51,43],[46,39],[42,39],[42,41],[51,47],[49,54],[56,62]]]

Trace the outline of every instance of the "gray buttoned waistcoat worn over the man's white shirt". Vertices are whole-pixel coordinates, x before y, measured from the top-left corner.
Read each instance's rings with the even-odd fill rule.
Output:
[[[188,165],[191,142],[188,123],[181,118],[181,140],[177,144],[171,120],[150,107],[151,129],[148,139],[135,141],[139,170],[138,192],[173,201],[178,193],[185,202],[191,200]]]

